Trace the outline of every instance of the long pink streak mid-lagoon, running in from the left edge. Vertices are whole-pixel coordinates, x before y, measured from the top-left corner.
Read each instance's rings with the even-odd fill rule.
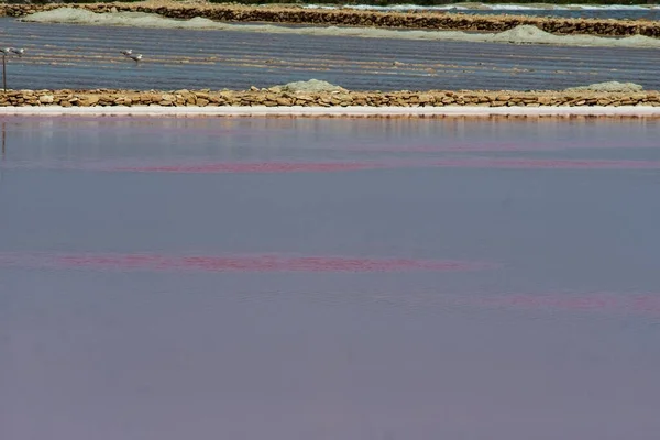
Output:
[[[474,271],[492,264],[444,260],[369,258],[345,256],[163,255],[88,253],[6,253],[0,265],[32,268],[89,268],[97,271],[194,272],[406,272]]]

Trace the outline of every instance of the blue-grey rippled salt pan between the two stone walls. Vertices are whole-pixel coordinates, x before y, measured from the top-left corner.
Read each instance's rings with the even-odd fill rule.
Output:
[[[8,87],[246,89],[317,78],[351,90],[562,89],[607,80],[660,89],[656,48],[568,47],[21,23]],[[119,53],[144,54],[139,65]]]

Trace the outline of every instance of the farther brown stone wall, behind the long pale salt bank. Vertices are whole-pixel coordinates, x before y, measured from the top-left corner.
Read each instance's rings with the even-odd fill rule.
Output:
[[[296,6],[251,7],[241,4],[177,3],[146,1],[138,3],[48,3],[0,4],[0,15],[23,16],[56,8],[84,8],[92,12],[146,12],[172,19],[202,16],[226,22],[268,22],[288,24],[376,26],[419,30],[503,32],[521,24],[553,34],[601,36],[660,36],[660,22],[646,20],[564,19],[524,15],[468,15],[443,11],[414,13],[304,9]]]

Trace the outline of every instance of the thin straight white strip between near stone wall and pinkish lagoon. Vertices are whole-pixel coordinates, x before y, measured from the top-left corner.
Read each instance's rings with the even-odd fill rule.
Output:
[[[218,116],[218,117],[660,117],[660,107],[0,107],[2,116]]]

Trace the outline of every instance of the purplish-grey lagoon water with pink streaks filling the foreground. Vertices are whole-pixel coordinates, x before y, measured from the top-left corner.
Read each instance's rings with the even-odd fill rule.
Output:
[[[0,125],[2,439],[658,438],[659,120]]]

